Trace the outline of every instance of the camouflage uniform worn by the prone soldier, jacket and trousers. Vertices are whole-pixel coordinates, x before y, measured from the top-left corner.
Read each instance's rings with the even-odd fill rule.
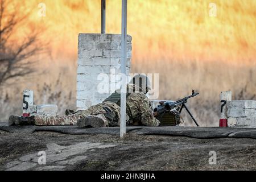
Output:
[[[160,122],[152,115],[152,108],[147,96],[140,92],[141,88],[133,84],[127,85],[126,104],[129,110],[126,111],[126,123],[130,125],[159,126]],[[115,92],[119,93],[119,90]],[[115,115],[114,120],[105,117],[107,110]],[[104,120],[105,126],[120,126],[120,106],[114,102],[104,101],[101,104],[90,106],[86,110],[79,110],[70,115],[64,116],[35,116],[35,125],[75,125],[77,120],[84,117],[99,117]],[[129,116],[130,115],[130,116]]]

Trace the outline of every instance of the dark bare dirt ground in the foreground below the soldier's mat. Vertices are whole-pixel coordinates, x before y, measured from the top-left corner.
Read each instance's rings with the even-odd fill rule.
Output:
[[[0,131],[0,170],[255,170],[256,140]],[[39,164],[39,151],[46,164]],[[209,164],[210,151],[217,164]]]

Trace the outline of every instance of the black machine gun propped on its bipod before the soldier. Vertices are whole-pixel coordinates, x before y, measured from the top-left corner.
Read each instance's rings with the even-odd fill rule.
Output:
[[[193,121],[196,123],[196,126],[199,126],[196,122],[196,119],[193,117],[193,115],[191,114],[191,111],[189,111],[188,107],[185,105],[185,103],[187,103],[188,99],[191,97],[195,97],[197,96],[199,93],[195,93],[195,90],[192,90],[192,94],[191,96],[182,98],[181,100],[172,102],[172,101],[164,101],[164,102],[160,102],[160,105],[158,105],[157,107],[155,107],[154,112],[156,113],[156,115],[163,115],[164,113],[166,113],[167,111],[171,111],[172,109],[174,109],[175,107],[179,107],[177,109],[177,111],[179,111],[179,114],[181,113],[182,109],[185,107],[185,109],[187,110],[188,114],[191,116],[191,118],[193,119]]]

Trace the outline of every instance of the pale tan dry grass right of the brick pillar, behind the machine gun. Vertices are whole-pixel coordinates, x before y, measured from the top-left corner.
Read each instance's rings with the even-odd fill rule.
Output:
[[[199,92],[199,96],[189,101],[189,106],[201,126],[218,126],[221,91],[232,90],[233,100],[256,99],[256,67],[253,64],[232,65],[221,61],[148,64],[142,61],[133,63],[133,72],[159,73],[159,100],[178,100],[191,94],[192,89]]]

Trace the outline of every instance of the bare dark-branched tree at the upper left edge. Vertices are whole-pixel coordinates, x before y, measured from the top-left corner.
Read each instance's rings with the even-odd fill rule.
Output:
[[[0,86],[16,77],[30,75],[35,71],[35,55],[43,53],[44,44],[39,41],[39,32],[31,30],[22,41],[12,40],[15,29],[28,18],[28,14],[7,11],[11,1],[0,0]],[[32,33],[34,32],[34,33]]]

